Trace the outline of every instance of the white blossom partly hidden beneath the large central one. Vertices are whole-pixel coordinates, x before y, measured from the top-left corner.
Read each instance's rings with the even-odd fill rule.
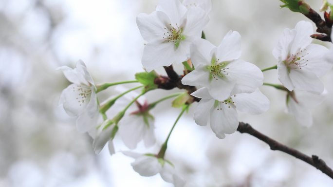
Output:
[[[259,89],[253,93],[230,95],[224,101],[214,99],[206,88],[201,88],[191,95],[201,98],[194,112],[198,125],[210,124],[213,132],[220,139],[225,134],[234,133],[238,128],[237,110],[250,114],[259,114],[269,108],[269,100]]]

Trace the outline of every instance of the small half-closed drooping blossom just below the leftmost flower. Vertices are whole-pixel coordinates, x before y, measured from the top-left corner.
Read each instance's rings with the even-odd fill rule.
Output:
[[[109,126],[108,128],[104,129],[106,126]],[[100,127],[93,128],[89,131],[89,135],[92,137],[92,148],[95,152],[95,154],[98,154],[103,150],[104,146],[108,143],[108,148],[110,154],[114,154],[114,146],[111,139],[112,130],[114,128],[114,123],[112,120],[105,120]],[[104,130],[103,130],[104,129]]]

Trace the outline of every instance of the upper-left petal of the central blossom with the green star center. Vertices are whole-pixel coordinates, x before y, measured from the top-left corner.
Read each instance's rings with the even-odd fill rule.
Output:
[[[212,59],[210,54],[214,48],[216,47],[206,39],[199,38],[195,40],[190,47],[191,61],[194,67],[210,65]]]

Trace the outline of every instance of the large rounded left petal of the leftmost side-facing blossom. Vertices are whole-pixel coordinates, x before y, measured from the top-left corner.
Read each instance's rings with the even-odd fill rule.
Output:
[[[90,90],[84,86],[79,88],[78,85],[71,84],[61,93],[61,103],[63,104],[66,113],[70,116],[80,115],[84,112],[87,104],[90,102],[91,95],[88,94],[86,98],[83,98],[80,89]]]

